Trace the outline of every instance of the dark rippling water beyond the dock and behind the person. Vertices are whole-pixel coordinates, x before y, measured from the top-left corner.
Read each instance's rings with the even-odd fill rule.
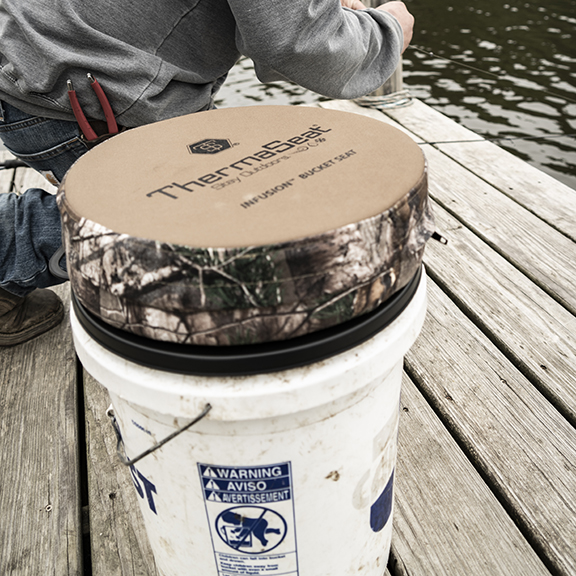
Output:
[[[487,138],[554,135],[498,144],[576,189],[576,0],[407,5],[416,18],[403,60],[411,94]],[[219,97],[219,106],[325,99],[287,82],[260,84],[249,60]]]

